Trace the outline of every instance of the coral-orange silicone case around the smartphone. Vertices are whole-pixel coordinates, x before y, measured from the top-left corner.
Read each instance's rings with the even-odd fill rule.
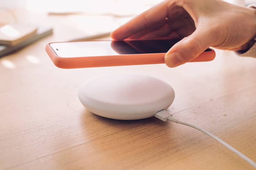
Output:
[[[123,66],[123,65],[142,65],[142,64],[161,64],[164,63],[165,53],[152,54],[128,54],[128,55],[108,55],[108,56],[92,56],[92,57],[59,57],[50,46],[46,45],[46,52],[52,59],[52,62],[59,68],[88,68],[88,67],[107,67],[107,66]],[[212,61],[215,58],[215,51],[208,48],[197,58],[190,62]]]

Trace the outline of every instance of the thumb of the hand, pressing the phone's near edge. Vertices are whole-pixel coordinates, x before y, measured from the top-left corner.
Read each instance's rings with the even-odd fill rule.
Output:
[[[165,54],[164,62],[168,67],[176,67],[193,60],[211,46],[209,33],[196,29],[194,33],[177,42]]]

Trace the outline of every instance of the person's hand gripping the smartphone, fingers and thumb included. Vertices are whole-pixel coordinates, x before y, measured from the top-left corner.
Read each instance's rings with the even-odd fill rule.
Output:
[[[167,0],[111,33],[114,40],[182,39],[165,55],[169,67],[196,58],[210,46],[246,50],[255,36],[256,10],[221,0]]]

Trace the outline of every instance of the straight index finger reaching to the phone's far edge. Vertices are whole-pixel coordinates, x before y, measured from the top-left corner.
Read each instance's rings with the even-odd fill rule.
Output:
[[[167,17],[167,1],[157,4],[120,26],[111,33],[114,40],[123,40]]]

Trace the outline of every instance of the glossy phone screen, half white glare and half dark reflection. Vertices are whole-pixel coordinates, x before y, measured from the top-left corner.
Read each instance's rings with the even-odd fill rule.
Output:
[[[59,57],[91,57],[166,53],[179,40],[56,42],[50,46]]]

